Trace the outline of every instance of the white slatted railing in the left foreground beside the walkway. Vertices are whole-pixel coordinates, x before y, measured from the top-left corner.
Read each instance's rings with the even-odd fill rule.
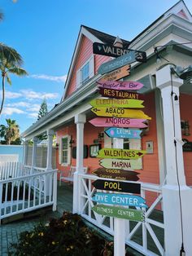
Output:
[[[56,210],[57,170],[0,180],[0,219],[53,205]]]

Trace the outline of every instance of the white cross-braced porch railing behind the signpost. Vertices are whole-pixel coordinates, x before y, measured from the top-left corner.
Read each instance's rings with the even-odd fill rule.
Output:
[[[94,175],[79,174],[81,180],[81,210],[80,214],[90,223],[94,223],[97,227],[102,228],[109,234],[114,234],[114,218],[96,214],[91,208],[96,204],[91,200],[96,189],[92,182],[100,179]],[[107,179],[109,180],[109,179]],[[161,207],[162,193],[159,185],[151,183],[141,183],[141,196],[146,198],[146,203],[150,206],[142,210],[145,211],[145,222],[135,223],[125,221],[126,223],[126,244],[137,249],[144,255],[164,255],[164,220],[161,210],[156,210],[156,206]],[[98,190],[97,190],[98,191]],[[150,196],[150,198],[148,198]],[[151,200],[149,200],[151,199]],[[141,208],[137,208],[141,210]],[[161,239],[160,239],[161,236]],[[163,239],[162,239],[163,237]],[[150,243],[150,246],[149,246]],[[152,248],[151,250],[148,248]]]

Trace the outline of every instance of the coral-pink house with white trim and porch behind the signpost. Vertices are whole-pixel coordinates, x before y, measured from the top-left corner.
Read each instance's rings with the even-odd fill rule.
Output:
[[[127,227],[125,238],[128,245],[145,255],[178,255],[182,241],[186,255],[192,255],[191,38],[192,16],[185,3],[179,1],[136,38],[122,39],[124,49],[145,51],[147,56],[146,63],[131,64],[130,75],[124,77],[124,81],[144,84],[140,91],[144,112],[151,117],[148,128],[142,130],[141,139],[124,139],[124,148],[146,150],[146,155],[137,160],[136,170],[140,173],[137,183],[142,184],[141,196],[149,206],[146,222],[138,223],[132,231]],[[93,43],[113,45],[115,40],[114,36],[81,25],[61,103],[23,133],[27,144],[28,139],[46,131],[50,147],[52,135],[56,135],[57,169],[63,177],[70,178],[71,166],[76,166],[71,177],[73,212],[111,234],[114,232],[112,220],[106,225],[103,218],[91,210],[94,193],[91,182],[99,179],[92,174],[99,168],[95,157],[98,149],[113,148],[114,142],[104,133],[104,127],[89,123],[96,117],[90,111],[89,101],[100,97],[96,82],[102,75],[98,68],[113,59],[94,54]],[[183,141],[187,143],[183,145]],[[48,148],[47,170],[52,168],[50,159]],[[164,223],[151,218],[155,209],[164,214]],[[160,244],[154,226],[163,230],[165,245]],[[142,245],[132,240],[137,228],[142,228]],[[147,232],[158,254],[147,248]]]

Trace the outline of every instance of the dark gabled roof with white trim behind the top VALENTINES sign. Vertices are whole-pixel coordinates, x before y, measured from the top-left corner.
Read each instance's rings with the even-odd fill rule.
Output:
[[[80,46],[81,46],[81,39],[82,39],[83,36],[85,36],[86,38],[89,38],[89,40],[92,41],[93,43],[94,42],[102,42],[102,43],[106,43],[106,44],[113,44],[113,42],[115,42],[115,40],[116,40],[116,37],[111,36],[108,33],[103,33],[103,32],[98,31],[96,29],[91,29],[89,27],[86,27],[85,25],[81,25],[81,29],[80,29],[80,32],[79,32],[79,35],[78,35],[78,38],[77,38],[77,41],[76,41],[75,51],[73,52],[73,55],[72,55],[72,62],[71,62],[70,67],[69,67],[68,77],[67,77],[67,80],[65,82],[65,86],[64,86],[65,91],[64,91],[62,100],[65,98],[65,95],[68,91],[68,86],[70,84],[71,77],[72,77],[72,70],[74,68],[74,65],[76,64],[76,58],[77,58],[78,53],[79,53],[79,49],[80,49]],[[124,47],[129,46],[129,41],[126,41],[124,39],[121,39],[121,40],[124,43]]]

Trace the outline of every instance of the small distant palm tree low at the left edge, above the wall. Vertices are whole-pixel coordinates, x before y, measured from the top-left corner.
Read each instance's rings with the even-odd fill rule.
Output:
[[[15,120],[6,119],[7,126],[0,126],[0,137],[5,139],[7,145],[20,138],[20,128]]]

